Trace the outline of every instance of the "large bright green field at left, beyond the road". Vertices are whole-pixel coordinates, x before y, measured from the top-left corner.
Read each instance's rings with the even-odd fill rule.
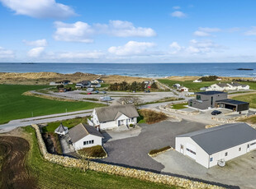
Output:
[[[103,104],[90,102],[64,102],[21,95],[28,90],[40,90],[45,85],[0,85],[0,124],[12,119],[30,118],[53,113],[100,107]]]

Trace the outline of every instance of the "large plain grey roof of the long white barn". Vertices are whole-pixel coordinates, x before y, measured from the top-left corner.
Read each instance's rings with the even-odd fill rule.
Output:
[[[215,154],[256,140],[256,130],[244,122],[239,122],[194,131],[177,137],[191,137],[207,154]]]

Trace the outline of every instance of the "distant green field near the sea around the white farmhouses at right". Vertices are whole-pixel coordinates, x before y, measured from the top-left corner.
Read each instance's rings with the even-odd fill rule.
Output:
[[[193,81],[171,81],[171,80],[158,80],[159,82],[173,87],[174,84],[178,83],[180,85],[186,86],[191,92],[199,92],[201,87],[210,86],[220,81],[204,81],[201,83],[193,83]],[[256,90],[256,82],[238,82],[240,84],[249,85],[251,90]]]

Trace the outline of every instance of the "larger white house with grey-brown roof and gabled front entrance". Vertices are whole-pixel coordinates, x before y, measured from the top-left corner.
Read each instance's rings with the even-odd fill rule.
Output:
[[[139,113],[132,104],[94,108],[92,124],[100,129],[110,129],[121,125],[136,124]]]

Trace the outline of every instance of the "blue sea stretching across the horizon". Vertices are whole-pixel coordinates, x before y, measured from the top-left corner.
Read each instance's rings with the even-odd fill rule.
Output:
[[[256,63],[0,63],[0,72],[40,71],[152,78],[211,75],[256,77]]]

